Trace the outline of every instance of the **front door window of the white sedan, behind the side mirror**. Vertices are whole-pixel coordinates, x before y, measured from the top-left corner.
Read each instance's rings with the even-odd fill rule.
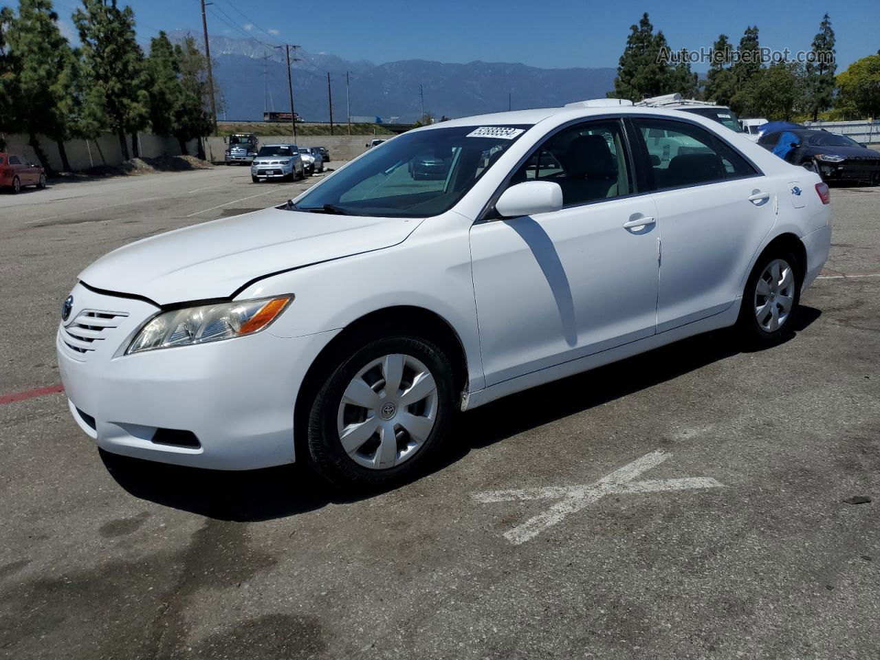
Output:
[[[634,192],[620,121],[588,121],[563,128],[532,153],[510,180],[552,181],[562,188],[562,204],[620,197]]]

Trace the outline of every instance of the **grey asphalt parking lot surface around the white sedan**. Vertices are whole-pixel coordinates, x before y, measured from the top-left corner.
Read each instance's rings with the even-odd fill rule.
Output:
[[[880,655],[880,188],[832,189],[792,340],[704,335],[481,407],[392,491],[102,457],[57,386],[79,270],[309,183],[0,195],[0,656]]]

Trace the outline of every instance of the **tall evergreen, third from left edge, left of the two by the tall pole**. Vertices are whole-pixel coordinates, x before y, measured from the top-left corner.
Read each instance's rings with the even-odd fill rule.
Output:
[[[145,68],[135,39],[135,14],[128,6],[120,9],[117,0],[83,0],[73,19],[88,71],[88,114],[92,120],[103,115],[119,137],[122,157],[128,159],[125,135],[132,134],[137,154],[136,131],[146,124],[150,102],[143,89]]]

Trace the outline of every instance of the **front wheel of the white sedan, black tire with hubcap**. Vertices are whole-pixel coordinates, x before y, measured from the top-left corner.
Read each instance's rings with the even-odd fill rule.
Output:
[[[379,339],[347,353],[312,402],[309,456],[338,486],[384,488],[426,465],[444,443],[455,402],[451,363],[416,337]],[[390,395],[386,373],[400,374]]]

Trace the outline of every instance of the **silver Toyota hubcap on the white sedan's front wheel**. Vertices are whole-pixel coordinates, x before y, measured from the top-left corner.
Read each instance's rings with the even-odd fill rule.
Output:
[[[434,429],[437,387],[428,367],[413,356],[373,360],[342,393],[337,430],[342,448],[372,470],[413,458]]]

